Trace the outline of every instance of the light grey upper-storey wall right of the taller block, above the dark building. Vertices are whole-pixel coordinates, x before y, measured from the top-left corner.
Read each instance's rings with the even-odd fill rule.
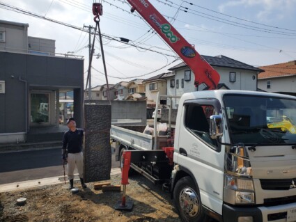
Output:
[[[29,51],[44,51],[54,55],[56,51],[56,40],[46,38],[28,37]]]

